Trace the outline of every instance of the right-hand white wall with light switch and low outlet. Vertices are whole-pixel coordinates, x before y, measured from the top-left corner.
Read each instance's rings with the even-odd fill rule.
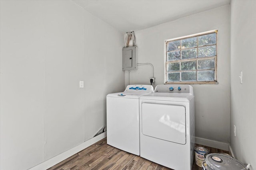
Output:
[[[234,156],[256,170],[256,1],[231,1],[230,140]],[[240,84],[240,71],[243,84]],[[236,137],[234,137],[236,125]]]

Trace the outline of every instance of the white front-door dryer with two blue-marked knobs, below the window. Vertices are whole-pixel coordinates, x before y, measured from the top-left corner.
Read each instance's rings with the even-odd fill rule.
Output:
[[[158,85],[140,97],[140,156],[174,170],[191,170],[194,93],[190,85]]]

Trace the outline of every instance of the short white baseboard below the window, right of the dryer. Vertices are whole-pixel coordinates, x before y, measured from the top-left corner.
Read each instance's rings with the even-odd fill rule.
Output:
[[[229,150],[229,143],[213,141],[213,140],[204,139],[200,137],[196,137],[196,143],[200,145],[216,148],[216,149]]]

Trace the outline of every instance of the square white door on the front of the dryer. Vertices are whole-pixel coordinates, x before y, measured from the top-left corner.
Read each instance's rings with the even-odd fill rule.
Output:
[[[186,144],[185,106],[168,103],[142,103],[142,134]]]

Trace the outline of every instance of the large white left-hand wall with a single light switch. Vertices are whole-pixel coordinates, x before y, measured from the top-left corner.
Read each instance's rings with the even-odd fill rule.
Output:
[[[1,170],[31,168],[106,126],[106,94],[124,90],[122,47],[122,33],[72,1],[0,1]]]

